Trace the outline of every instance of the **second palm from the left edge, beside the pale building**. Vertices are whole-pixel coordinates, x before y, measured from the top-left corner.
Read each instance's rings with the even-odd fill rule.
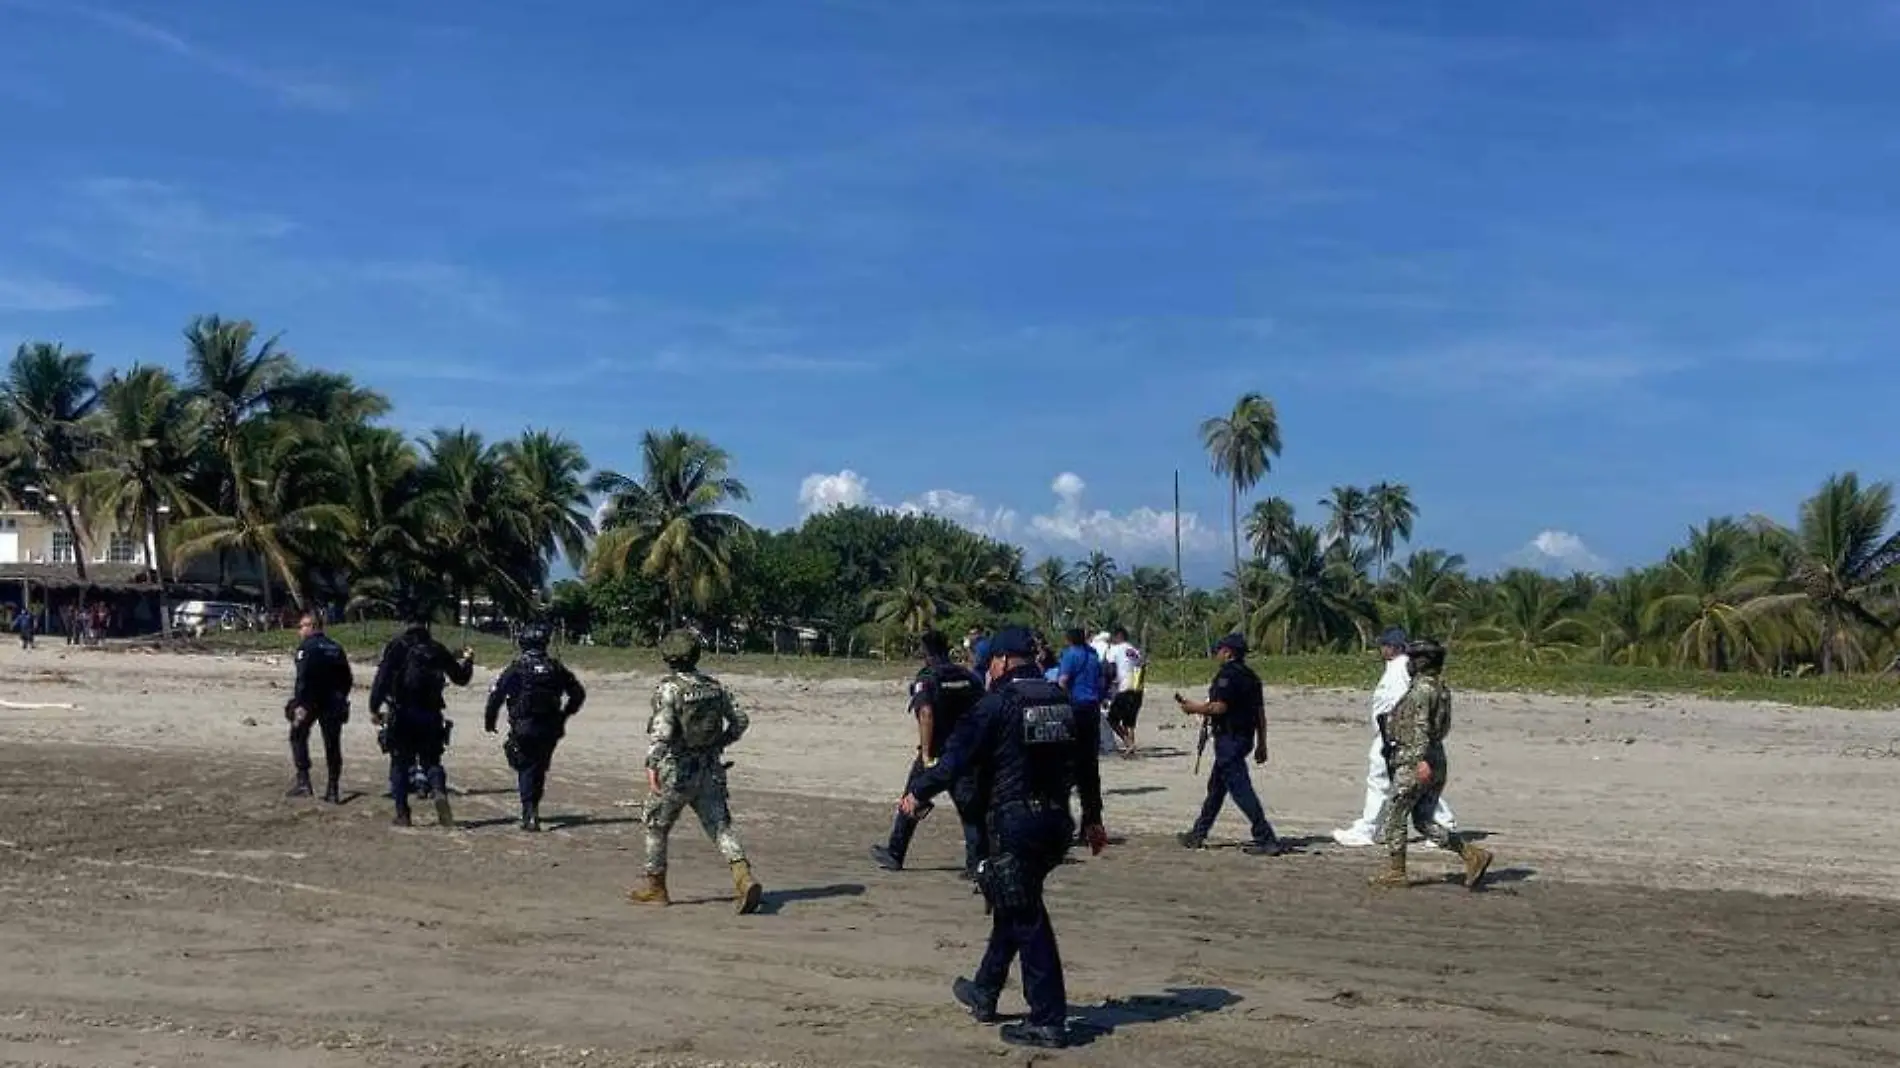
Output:
[[[198,435],[198,409],[169,371],[133,365],[114,372],[99,391],[99,441],[74,492],[89,515],[110,517],[118,530],[158,545],[162,511],[179,519],[205,511],[188,486]],[[148,563],[163,591],[175,580],[165,555]],[[160,601],[160,625],[169,635]]]

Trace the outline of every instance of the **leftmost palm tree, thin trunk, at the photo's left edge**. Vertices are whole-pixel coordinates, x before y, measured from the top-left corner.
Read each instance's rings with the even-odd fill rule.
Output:
[[[87,420],[99,407],[89,352],[30,342],[13,353],[6,378],[6,403],[19,426],[23,456],[32,477],[42,483],[40,505],[51,505],[65,521],[72,536],[72,563],[82,582],[86,540],[72,509],[68,483],[86,469],[86,452],[91,447]]]

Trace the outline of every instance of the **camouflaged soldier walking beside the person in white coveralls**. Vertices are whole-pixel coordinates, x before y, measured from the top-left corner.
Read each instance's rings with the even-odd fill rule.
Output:
[[[1465,886],[1476,889],[1492,867],[1492,853],[1434,819],[1448,775],[1444,739],[1452,732],[1452,688],[1442,678],[1444,646],[1434,640],[1412,642],[1406,658],[1412,686],[1381,724],[1393,792],[1379,813],[1387,867],[1372,876],[1372,886],[1412,886],[1406,876],[1406,838],[1416,825],[1434,846],[1465,861]]]

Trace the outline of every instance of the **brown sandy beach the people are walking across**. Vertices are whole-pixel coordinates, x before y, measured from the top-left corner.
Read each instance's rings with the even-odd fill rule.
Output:
[[[692,825],[673,849],[682,903],[619,897],[638,870],[642,680],[589,680],[540,836],[513,827],[477,694],[458,696],[466,827],[395,830],[367,724],[350,728],[355,798],[281,796],[281,665],[46,652],[0,656],[0,1064],[1900,1058],[1900,905],[1879,853],[1900,764],[1864,715],[1472,699],[1454,800],[1501,855],[1476,895],[1374,893],[1374,859],[1330,842],[1184,853],[1159,830],[1193,804],[1191,735],[1148,730],[1159,754],[1108,766],[1123,840],[1053,878],[1083,1045],[1032,1057],[948,1000],[986,929],[950,870],[952,827],[925,825],[916,870],[864,857],[901,772],[895,686],[741,682],[762,711],[733,753],[735,810],[770,893],[737,918]],[[1358,705],[1281,703],[1269,800],[1284,834],[1322,838],[1355,806]],[[1585,715],[1613,726],[1592,739]],[[1776,775],[1811,787],[1742,789]],[[1856,834],[1864,819],[1879,830]],[[1678,830],[1642,840],[1664,823]],[[1735,872],[1775,893],[1714,889]],[[1015,986],[1003,1007],[1020,1011]]]

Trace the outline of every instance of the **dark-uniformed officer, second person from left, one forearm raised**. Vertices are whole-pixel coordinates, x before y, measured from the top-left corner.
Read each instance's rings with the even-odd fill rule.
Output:
[[[448,724],[443,720],[443,690],[448,682],[467,686],[475,677],[475,650],[462,646],[452,656],[443,642],[429,637],[429,614],[412,612],[408,629],[390,639],[376,665],[376,680],[369,688],[369,715],[376,726],[390,724],[390,796],[395,800],[395,825],[408,827],[408,768],[420,762],[429,792],[435,794],[435,821],[454,827],[448,806],[448,773],[443,770],[443,747],[448,745]],[[390,705],[391,715],[382,709]]]

